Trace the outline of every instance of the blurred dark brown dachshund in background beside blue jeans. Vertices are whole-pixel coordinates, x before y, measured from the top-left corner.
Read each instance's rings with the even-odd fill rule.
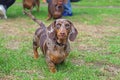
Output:
[[[47,20],[54,18],[58,19],[62,17],[64,11],[63,4],[67,3],[67,0],[50,0],[48,3],[48,18]]]

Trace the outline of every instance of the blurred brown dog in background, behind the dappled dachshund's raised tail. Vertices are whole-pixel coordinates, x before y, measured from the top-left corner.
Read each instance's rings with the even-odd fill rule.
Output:
[[[37,7],[37,11],[39,11],[40,0],[23,0],[23,9],[29,9],[32,11],[34,7]]]

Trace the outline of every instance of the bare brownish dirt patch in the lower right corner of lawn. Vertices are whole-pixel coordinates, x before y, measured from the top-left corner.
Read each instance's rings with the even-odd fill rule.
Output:
[[[98,76],[106,76],[106,80],[112,80],[115,76],[117,76],[120,73],[120,66],[110,64],[106,61],[87,63],[81,59],[72,59],[71,62],[76,66],[86,65],[93,66],[93,68],[99,69],[101,71],[101,74],[99,74]]]

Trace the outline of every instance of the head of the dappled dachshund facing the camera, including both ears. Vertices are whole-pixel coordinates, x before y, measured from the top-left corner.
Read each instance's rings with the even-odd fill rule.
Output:
[[[78,31],[69,20],[57,19],[48,27],[48,34],[51,39],[65,43],[68,39],[74,41]]]

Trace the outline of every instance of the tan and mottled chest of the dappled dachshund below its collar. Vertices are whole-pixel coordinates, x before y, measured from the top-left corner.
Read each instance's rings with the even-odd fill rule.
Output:
[[[58,46],[55,44],[49,44],[47,54],[54,63],[61,63],[67,57],[65,46]]]

